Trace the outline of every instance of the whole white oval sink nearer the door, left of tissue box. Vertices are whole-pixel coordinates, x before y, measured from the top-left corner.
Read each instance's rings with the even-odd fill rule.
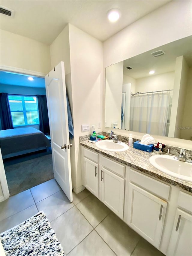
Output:
[[[129,146],[123,142],[116,143],[113,140],[100,140],[95,143],[98,149],[103,149],[112,152],[122,152],[129,148]]]

